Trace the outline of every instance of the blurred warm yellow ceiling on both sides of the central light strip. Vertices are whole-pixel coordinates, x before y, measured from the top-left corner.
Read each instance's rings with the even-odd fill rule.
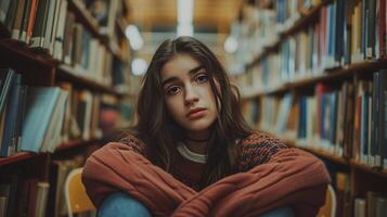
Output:
[[[127,0],[130,22],[142,31],[176,31],[177,0]],[[195,33],[229,31],[243,0],[194,0]]]

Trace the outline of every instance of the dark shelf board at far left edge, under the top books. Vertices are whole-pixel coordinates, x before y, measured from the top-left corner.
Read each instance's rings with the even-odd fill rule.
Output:
[[[50,54],[43,51],[31,49],[26,43],[22,43],[17,40],[2,38],[0,39],[0,49],[13,52],[22,58],[37,62],[47,66],[56,66],[60,61],[53,59]]]

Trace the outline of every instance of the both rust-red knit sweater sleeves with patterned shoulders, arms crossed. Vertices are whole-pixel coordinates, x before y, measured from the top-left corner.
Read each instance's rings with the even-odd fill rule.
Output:
[[[124,191],[154,216],[257,216],[283,205],[293,205],[296,216],[314,216],[330,182],[320,159],[265,133],[242,140],[240,173],[202,190],[153,165],[143,153],[143,143],[129,137],[89,157],[82,181],[95,206]]]

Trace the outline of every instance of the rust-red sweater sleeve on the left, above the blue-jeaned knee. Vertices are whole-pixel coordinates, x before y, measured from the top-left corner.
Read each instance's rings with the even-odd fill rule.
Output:
[[[95,151],[82,171],[86,191],[96,207],[106,196],[121,191],[139,200],[154,216],[170,216],[196,192],[139,153],[136,144],[113,142]]]

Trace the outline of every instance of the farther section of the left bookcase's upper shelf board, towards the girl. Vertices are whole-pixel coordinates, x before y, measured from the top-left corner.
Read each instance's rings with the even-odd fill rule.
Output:
[[[72,67],[67,65],[61,65],[59,67],[59,72],[56,73],[57,78],[60,79],[68,79],[75,84],[82,85],[92,90],[111,93],[114,95],[122,97],[122,93],[117,92],[114,88],[107,87],[105,85],[99,84],[96,81],[91,80],[90,78],[82,76],[81,73],[75,72]]]

